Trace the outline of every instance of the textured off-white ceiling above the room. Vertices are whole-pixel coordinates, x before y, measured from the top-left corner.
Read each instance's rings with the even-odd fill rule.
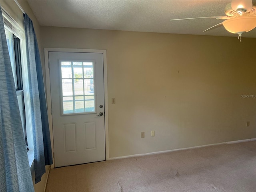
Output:
[[[34,15],[42,26],[237,36],[223,26],[203,32],[223,20],[170,19],[225,16],[231,0],[29,0]],[[256,3],[256,1],[253,1]],[[256,28],[243,34],[256,38]]]

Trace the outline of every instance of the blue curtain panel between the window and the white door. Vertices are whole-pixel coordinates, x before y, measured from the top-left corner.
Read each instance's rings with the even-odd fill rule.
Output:
[[[35,183],[40,182],[45,173],[45,165],[52,164],[52,149],[42,65],[32,20],[25,13],[24,27],[26,36],[26,51],[28,64],[28,78],[30,89],[30,103],[32,113],[32,132],[34,140]]]

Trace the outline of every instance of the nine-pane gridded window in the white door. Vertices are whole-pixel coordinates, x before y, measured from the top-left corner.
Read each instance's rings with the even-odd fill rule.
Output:
[[[94,113],[94,62],[60,61],[62,114]]]

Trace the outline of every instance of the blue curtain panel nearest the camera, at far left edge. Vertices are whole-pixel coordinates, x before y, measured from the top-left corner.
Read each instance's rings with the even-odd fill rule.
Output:
[[[0,7],[0,189],[34,192]]]

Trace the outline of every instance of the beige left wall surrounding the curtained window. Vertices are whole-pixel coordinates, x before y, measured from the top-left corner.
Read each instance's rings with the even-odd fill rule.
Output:
[[[20,6],[22,6],[23,10],[28,14],[30,19],[33,21],[33,26],[34,26],[37,40],[38,40],[38,46],[40,49],[40,53],[42,53],[41,38],[40,38],[40,25],[38,24],[36,17],[34,16],[32,10],[30,9],[28,2],[27,1],[18,1],[18,2],[20,4]],[[1,0],[0,4],[1,4],[2,8],[4,8],[4,10],[6,10],[6,12],[8,12],[8,14],[10,14],[10,16],[24,29],[23,14],[22,14],[22,11],[20,10],[20,8],[17,6],[17,4],[13,0],[9,0],[9,1]],[[42,61],[42,58],[43,58],[43,56],[41,54],[41,61]],[[44,174],[42,176],[41,182],[37,183],[36,185],[34,184],[35,192],[43,192],[44,191],[44,187],[45,187],[45,183],[46,183],[46,179],[47,179],[47,172],[48,172],[49,168],[50,168],[50,166],[46,166],[46,174]],[[31,167],[31,173],[32,173],[33,182],[35,182],[35,174],[34,174],[33,166]]]

